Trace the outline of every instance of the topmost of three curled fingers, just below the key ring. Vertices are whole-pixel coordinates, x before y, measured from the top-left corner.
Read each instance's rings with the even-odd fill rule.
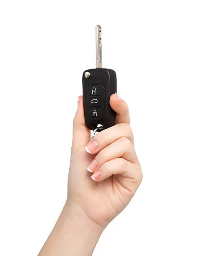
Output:
[[[114,125],[111,128],[101,131],[86,146],[86,151],[90,154],[96,154],[103,148],[118,140],[119,138],[128,138],[134,143],[131,127],[126,123]]]

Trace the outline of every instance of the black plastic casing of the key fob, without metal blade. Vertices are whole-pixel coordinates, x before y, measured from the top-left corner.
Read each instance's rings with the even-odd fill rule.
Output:
[[[89,78],[86,78],[84,76],[85,72],[90,73]],[[113,69],[100,69],[100,68],[87,69],[83,72],[82,83],[83,83],[83,108],[84,108],[84,117],[85,117],[86,126],[89,129],[94,130],[98,124],[103,125],[103,129],[106,129],[115,125],[116,113],[111,108],[109,104],[109,99],[112,94],[117,92],[116,72]],[[92,96],[92,95],[88,96],[88,90],[86,89],[86,88],[90,88],[88,87],[89,85],[93,85],[93,86],[101,85],[104,87],[105,90],[104,90],[103,107],[88,106],[88,98]],[[96,93],[95,97],[98,97],[98,93]],[[100,117],[94,118],[91,116],[90,113],[94,109],[98,110],[98,112],[101,113]]]

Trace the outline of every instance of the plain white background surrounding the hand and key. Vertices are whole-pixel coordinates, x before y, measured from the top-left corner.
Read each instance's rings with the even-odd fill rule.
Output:
[[[116,71],[129,105],[144,179],[93,255],[199,255],[197,4],[1,0],[0,255],[37,255],[65,203],[96,24],[103,67]]]

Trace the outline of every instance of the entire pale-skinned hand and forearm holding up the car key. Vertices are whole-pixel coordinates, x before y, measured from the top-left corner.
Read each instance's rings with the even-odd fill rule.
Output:
[[[126,102],[116,94],[110,97],[116,125],[91,140],[83,98],[78,98],[68,197],[39,256],[91,256],[103,230],[128,205],[142,180]]]

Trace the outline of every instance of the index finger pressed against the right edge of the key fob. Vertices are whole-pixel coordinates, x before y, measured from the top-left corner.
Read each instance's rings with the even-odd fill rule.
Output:
[[[113,94],[110,97],[110,105],[111,105],[111,108],[116,112],[116,124],[130,123],[128,105],[124,100],[118,97],[117,94]]]

